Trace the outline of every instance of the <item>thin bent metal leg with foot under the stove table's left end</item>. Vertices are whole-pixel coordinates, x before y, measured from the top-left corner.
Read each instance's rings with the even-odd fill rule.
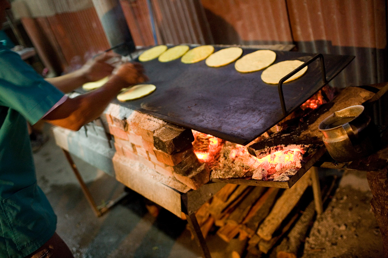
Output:
[[[78,171],[78,168],[77,168],[76,164],[74,163],[73,159],[71,158],[70,153],[67,152],[64,149],[62,149],[62,151],[65,153],[65,157],[66,157],[67,161],[69,162],[71,168],[73,169],[73,172],[76,175],[78,182],[81,185],[82,192],[85,195],[86,199],[88,200],[90,206],[92,207],[92,209],[93,209],[93,211],[94,211],[94,213],[96,214],[97,217],[99,217],[102,214],[104,214],[105,212],[107,212],[113,205],[115,205],[122,198],[124,198],[124,197],[126,197],[128,195],[128,193],[123,193],[118,198],[109,201],[108,204],[105,205],[104,207],[98,208],[96,203],[95,203],[95,201],[94,201],[94,199],[93,199],[93,197],[92,197],[92,195],[90,194],[90,191],[89,191],[88,187],[86,186],[85,182],[83,182],[81,174]]]

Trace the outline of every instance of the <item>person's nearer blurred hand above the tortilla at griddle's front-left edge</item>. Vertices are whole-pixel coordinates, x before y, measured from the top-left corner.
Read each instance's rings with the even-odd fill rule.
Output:
[[[142,83],[148,80],[144,74],[144,67],[140,63],[124,63],[114,73],[129,85]]]

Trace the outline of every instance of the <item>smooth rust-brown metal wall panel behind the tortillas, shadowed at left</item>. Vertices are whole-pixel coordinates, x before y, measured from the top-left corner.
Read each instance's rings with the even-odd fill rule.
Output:
[[[284,0],[201,0],[215,44],[292,44]]]

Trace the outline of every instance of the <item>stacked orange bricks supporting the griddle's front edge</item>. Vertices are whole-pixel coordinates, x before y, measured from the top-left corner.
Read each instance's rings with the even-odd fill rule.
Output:
[[[115,156],[121,156],[115,159],[137,161],[162,175],[162,183],[177,190],[175,181],[191,189],[209,182],[209,168],[193,151],[190,129],[113,104],[105,115],[114,136]]]

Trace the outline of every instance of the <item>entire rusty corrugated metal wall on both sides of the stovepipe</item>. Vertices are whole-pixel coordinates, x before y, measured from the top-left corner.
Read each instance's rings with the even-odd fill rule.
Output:
[[[388,81],[384,0],[150,2],[159,44],[293,43],[302,52],[356,56],[332,83],[336,87]],[[153,45],[147,0],[120,0],[120,3],[135,44]],[[77,62],[77,58],[83,61],[85,53],[109,48],[93,8],[46,19],[35,19],[34,23],[43,28],[40,34],[46,34],[51,49],[61,50],[56,59],[62,66]]]

